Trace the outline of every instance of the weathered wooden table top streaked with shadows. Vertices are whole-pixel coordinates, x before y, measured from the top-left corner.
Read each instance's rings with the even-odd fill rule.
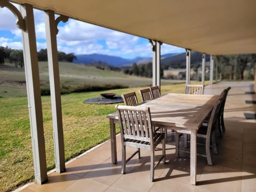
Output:
[[[154,126],[170,129],[198,129],[209,116],[219,95],[192,95],[168,93],[160,98],[140,103],[150,108],[151,121]],[[118,119],[117,114],[108,118]]]

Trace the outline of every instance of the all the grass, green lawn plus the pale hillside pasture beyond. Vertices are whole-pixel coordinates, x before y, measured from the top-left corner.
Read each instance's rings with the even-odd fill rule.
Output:
[[[70,63],[60,63],[61,82],[69,85],[83,85],[83,78],[101,79],[102,82],[126,82],[128,89],[72,93],[61,95],[65,158],[83,153],[110,138],[109,121],[106,115],[115,111],[115,104],[98,105],[84,103],[85,99],[99,97],[100,93],[122,94],[141,89],[151,84],[150,78],[131,77],[113,71],[102,71],[86,66],[70,69]],[[62,68],[61,68],[62,67]],[[71,68],[74,66],[71,65]],[[76,75],[72,75],[76,73]],[[100,71],[94,71],[100,70]],[[90,74],[90,77],[88,77]],[[41,84],[47,84],[47,65],[40,63]],[[77,78],[75,78],[77,77]],[[95,78],[94,78],[95,77]],[[12,81],[10,81],[12,79]],[[65,80],[66,79],[66,80]],[[67,80],[68,79],[68,80]],[[113,80],[114,79],[114,80]],[[34,180],[31,133],[26,97],[25,74],[22,69],[1,68],[0,70],[0,191],[11,191],[26,182]],[[185,84],[175,81],[161,81],[162,93],[183,93]],[[172,85],[170,85],[172,83]],[[138,93],[138,91],[137,91]],[[139,94],[137,95],[138,98]],[[140,100],[140,99],[139,99]],[[44,137],[47,169],[54,167],[53,130],[50,96],[42,97]],[[117,127],[118,129],[118,127]],[[118,131],[118,130],[117,130]]]

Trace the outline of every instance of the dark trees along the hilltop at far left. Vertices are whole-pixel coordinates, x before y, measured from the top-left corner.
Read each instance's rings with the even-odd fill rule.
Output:
[[[38,61],[47,61],[47,49],[41,49],[37,52]],[[68,53],[58,51],[59,61],[73,62],[76,59],[74,53]],[[14,63],[15,67],[24,67],[23,50],[15,50],[9,47],[0,46],[0,64],[4,64],[5,60],[9,60],[10,63]]]

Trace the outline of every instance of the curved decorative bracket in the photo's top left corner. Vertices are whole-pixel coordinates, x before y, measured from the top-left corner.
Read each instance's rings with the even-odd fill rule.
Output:
[[[25,19],[22,18],[20,11],[13,4],[11,4],[7,0],[0,0],[0,7],[6,7],[7,9],[9,9],[16,17],[16,25],[18,26],[18,28],[23,31],[26,30]]]

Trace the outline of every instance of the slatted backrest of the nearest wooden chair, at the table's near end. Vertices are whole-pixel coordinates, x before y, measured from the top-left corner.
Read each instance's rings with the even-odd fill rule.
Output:
[[[116,105],[122,142],[126,139],[153,141],[149,107]]]

